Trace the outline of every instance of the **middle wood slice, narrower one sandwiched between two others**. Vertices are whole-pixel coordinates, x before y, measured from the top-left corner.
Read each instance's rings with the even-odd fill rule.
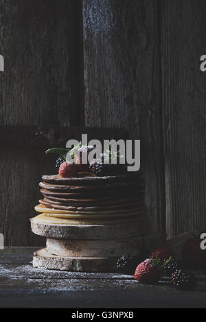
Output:
[[[141,237],[106,240],[57,240],[47,238],[47,251],[57,256],[118,257],[130,253],[138,256],[143,241]]]

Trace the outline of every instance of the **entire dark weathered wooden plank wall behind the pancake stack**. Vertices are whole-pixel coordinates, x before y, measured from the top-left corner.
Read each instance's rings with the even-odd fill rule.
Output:
[[[54,173],[43,151],[73,138],[68,126],[128,129],[141,139],[152,230],[206,229],[205,16],[205,0],[0,0],[6,245],[43,245],[28,219],[41,175]]]

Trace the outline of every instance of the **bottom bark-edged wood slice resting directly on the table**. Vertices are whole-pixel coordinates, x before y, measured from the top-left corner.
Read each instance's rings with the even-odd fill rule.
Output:
[[[117,258],[80,258],[62,257],[39,249],[34,253],[33,267],[77,272],[115,272]]]

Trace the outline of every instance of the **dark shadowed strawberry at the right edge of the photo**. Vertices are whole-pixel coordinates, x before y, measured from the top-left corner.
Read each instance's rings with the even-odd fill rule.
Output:
[[[203,268],[206,264],[206,250],[201,249],[201,239],[190,238],[183,245],[183,261],[190,268]]]

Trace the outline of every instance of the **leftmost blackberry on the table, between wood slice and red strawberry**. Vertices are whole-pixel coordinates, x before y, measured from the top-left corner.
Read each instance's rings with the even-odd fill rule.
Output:
[[[123,255],[117,260],[117,271],[119,271],[119,273],[126,273],[132,275],[135,273],[137,264],[137,256],[132,256],[130,254]]]

